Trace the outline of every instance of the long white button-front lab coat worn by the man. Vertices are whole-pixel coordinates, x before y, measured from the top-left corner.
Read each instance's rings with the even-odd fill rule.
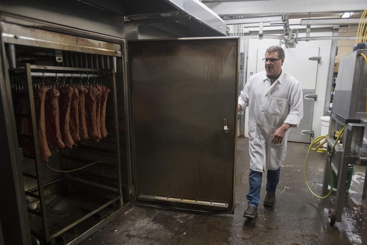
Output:
[[[276,170],[286,158],[289,131],[277,145],[272,143],[272,134],[283,123],[298,127],[303,117],[301,85],[283,71],[270,85],[266,72],[259,72],[248,79],[238,103],[242,110],[248,106],[250,168]]]

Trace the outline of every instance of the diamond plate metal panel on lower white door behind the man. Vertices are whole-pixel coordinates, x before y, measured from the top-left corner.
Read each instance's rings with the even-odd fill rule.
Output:
[[[314,95],[315,89],[302,89],[303,96]],[[310,143],[311,135],[301,134],[303,130],[312,130],[313,106],[315,100],[303,98],[303,118],[297,128],[290,128],[288,141]]]

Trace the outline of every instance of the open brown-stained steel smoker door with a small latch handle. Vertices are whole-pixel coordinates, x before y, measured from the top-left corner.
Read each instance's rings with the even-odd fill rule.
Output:
[[[239,39],[128,43],[137,203],[233,213]]]

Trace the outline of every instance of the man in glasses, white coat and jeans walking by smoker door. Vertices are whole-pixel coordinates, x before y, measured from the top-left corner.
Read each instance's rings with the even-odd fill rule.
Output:
[[[238,100],[238,110],[248,106],[250,188],[244,217],[255,218],[260,202],[262,173],[268,170],[264,205],[273,206],[280,166],[286,158],[288,129],[297,127],[303,117],[301,85],[281,67],[284,50],[266,50],[265,71],[248,79]]]

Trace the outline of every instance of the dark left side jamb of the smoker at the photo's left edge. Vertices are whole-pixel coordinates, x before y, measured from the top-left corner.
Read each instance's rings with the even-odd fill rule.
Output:
[[[0,46],[0,67],[3,68],[4,52],[3,46]],[[4,234],[4,244],[30,244],[30,232],[26,229],[29,227],[28,214],[26,210],[26,201],[24,187],[22,181],[21,169],[13,167],[12,162],[15,159],[13,151],[17,150],[18,143],[12,138],[16,138],[14,131],[8,130],[12,117],[9,114],[9,104],[11,100],[6,101],[5,92],[5,73],[0,75],[0,138],[1,138],[1,171],[0,186],[1,188],[1,208],[0,219],[2,222],[2,232]],[[6,224],[6,225],[4,225]],[[17,234],[17,235],[13,235]],[[0,239],[1,242],[1,239]]]

